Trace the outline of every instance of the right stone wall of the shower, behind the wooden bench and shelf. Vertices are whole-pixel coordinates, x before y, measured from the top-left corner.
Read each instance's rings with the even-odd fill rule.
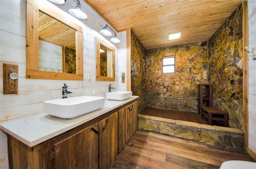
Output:
[[[229,113],[229,127],[243,130],[242,6],[210,38],[209,84],[213,106]]]

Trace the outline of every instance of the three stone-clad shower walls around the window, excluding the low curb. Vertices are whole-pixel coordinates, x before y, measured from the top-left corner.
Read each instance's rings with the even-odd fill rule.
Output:
[[[181,112],[198,115],[197,85],[212,84],[213,107],[228,112],[228,126],[242,131],[242,11],[242,6],[237,8],[206,42],[145,49],[132,32],[132,92],[140,97],[138,113],[150,107],[156,112],[164,109],[177,111],[178,115]],[[230,24],[233,22],[237,24]],[[174,73],[162,73],[165,56],[175,56]]]

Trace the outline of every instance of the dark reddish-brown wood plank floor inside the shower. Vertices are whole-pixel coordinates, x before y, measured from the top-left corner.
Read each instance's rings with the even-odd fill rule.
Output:
[[[187,111],[165,110],[146,107],[140,112],[140,114],[151,115],[154,117],[163,117],[166,119],[191,121],[200,124],[207,124],[207,121],[205,119],[201,119],[198,113],[191,113]]]

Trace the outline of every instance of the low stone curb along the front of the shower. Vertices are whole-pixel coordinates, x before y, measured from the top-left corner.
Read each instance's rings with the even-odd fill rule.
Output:
[[[244,150],[244,133],[239,129],[198,124],[138,114],[138,129],[182,139]]]

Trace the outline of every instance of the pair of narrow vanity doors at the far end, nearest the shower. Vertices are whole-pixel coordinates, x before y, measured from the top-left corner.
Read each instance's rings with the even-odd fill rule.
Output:
[[[138,101],[126,105],[118,111],[119,133],[118,133],[118,152],[120,153],[134,131],[137,129],[137,104]]]

